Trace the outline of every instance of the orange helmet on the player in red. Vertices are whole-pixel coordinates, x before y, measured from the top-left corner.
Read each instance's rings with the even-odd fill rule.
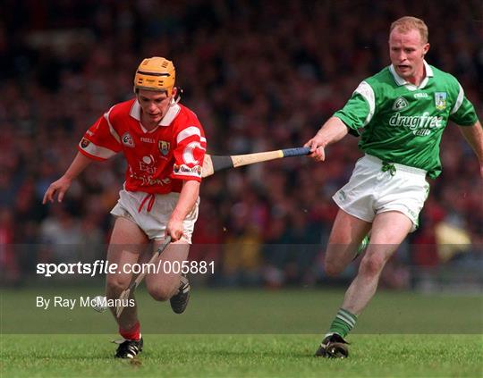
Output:
[[[173,62],[158,56],[144,59],[134,75],[134,93],[146,89],[166,92],[167,96],[172,96],[175,79]]]

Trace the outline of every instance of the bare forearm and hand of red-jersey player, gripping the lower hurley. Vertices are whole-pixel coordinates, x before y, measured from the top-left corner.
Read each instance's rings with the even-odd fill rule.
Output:
[[[199,197],[199,181],[183,181],[182,191],[178,203],[174,207],[173,214],[166,225],[166,235],[170,235],[172,241],[182,238],[182,222],[191,213]]]

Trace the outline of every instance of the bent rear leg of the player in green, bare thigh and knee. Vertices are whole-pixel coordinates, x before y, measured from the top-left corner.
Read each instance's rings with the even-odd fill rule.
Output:
[[[325,269],[328,275],[342,273],[352,262],[360,242],[370,228],[371,223],[339,209],[326,248]]]

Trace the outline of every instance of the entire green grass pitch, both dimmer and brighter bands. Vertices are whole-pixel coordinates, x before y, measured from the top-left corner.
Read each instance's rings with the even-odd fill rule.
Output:
[[[11,376],[483,376],[483,298],[380,291],[349,337],[345,360],[312,357],[343,290],[198,290],[190,307],[138,292],[141,365],[115,360],[116,326],[88,307],[37,308],[37,296],[100,288],[3,290],[0,377]],[[39,334],[42,333],[42,334]],[[106,334],[108,333],[108,334]]]

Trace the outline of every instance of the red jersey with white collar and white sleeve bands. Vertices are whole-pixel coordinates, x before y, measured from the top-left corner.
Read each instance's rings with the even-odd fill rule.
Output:
[[[130,191],[179,193],[183,180],[201,181],[207,139],[196,114],[173,103],[148,131],[140,111],[135,98],[111,107],[86,131],[80,153],[104,161],[122,151],[128,163],[124,187]]]

